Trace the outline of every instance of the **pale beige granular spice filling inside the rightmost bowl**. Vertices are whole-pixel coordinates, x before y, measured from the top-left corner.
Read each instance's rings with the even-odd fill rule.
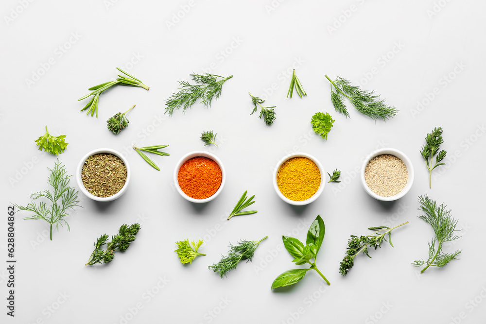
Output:
[[[368,188],[377,195],[391,197],[398,194],[407,185],[407,167],[395,155],[378,155],[366,165],[364,180]]]

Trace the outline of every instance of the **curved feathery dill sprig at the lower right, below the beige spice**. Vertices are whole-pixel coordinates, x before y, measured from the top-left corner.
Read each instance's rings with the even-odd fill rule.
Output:
[[[446,210],[447,205],[438,205],[427,195],[425,195],[425,197],[418,197],[418,202],[420,203],[420,208],[418,208],[418,210],[425,213],[425,215],[420,215],[418,218],[430,224],[435,234],[434,239],[428,242],[429,257],[427,260],[416,260],[412,263],[417,267],[426,264],[425,268],[420,271],[420,273],[423,273],[430,266],[443,267],[451,260],[457,260],[456,256],[459,255],[461,251],[457,250],[454,253],[444,253],[442,244],[459,239],[460,236],[454,235],[454,232],[459,231],[455,229],[457,220],[451,217],[451,210]]]

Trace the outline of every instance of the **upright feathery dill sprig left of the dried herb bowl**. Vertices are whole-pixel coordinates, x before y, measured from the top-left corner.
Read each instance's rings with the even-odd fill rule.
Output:
[[[44,220],[51,224],[51,240],[52,240],[52,225],[55,224],[59,231],[59,225],[66,225],[69,231],[69,224],[64,219],[69,216],[68,209],[74,210],[74,207],[78,206],[78,191],[69,187],[70,175],[66,175],[67,171],[64,165],[61,165],[59,159],[54,164],[53,169],[49,169],[51,175],[47,179],[47,182],[54,188],[54,192],[43,190],[31,195],[32,199],[47,198],[51,205],[48,207],[45,202],[40,202],[39,205],[35,203],[29,203],[27,206],[15,205],[19,210],[26,210],[33,212],[34,215],[24,218],[24,220]]]

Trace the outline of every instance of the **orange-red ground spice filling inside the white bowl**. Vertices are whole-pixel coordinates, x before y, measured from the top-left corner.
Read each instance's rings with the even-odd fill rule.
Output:
[[[223,179],[221,168],[212,159],[193,157],[182,164],[177,173],[181,190],[191,198],[205,199],[218,191]]]

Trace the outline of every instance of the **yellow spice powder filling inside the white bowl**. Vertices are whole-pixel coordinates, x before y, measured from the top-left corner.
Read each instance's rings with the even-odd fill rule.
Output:
[[[291,158],[278,169],[277,184],[280,192],[290,200],[311,198],[321,185],[321,172],[307,157]]]

